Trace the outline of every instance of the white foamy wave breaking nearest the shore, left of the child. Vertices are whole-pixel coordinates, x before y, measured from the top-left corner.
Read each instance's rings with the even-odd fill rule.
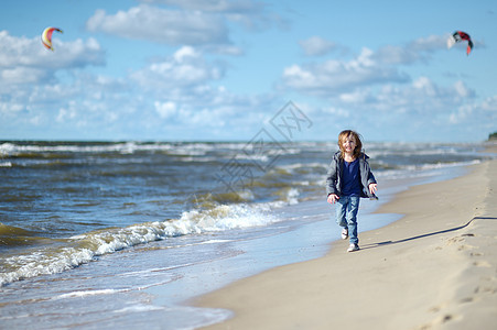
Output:
[[[268,226],[280,221],[270,210],[275,205],[218,205],[206,210],[183,212],[180,219],[145,222],[126,228],[109,228],[54,240],[52,244],[6,257],[1,264],[0,286],[23,278],[68,271],[96,257],[170,238],[233,229]],[[19,229],[20,230],[20,229]],[[20,233],[23,233],[21,230]]]

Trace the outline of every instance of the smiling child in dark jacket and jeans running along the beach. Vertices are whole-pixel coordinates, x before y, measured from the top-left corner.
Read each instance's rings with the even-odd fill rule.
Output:
[[[327,201],[336,202],[336,222],[343,228],[342,239],[350,237],[348,252],[359,250],[357,211],[360,197],[377,199],[377,184],[361,152],[359,134],[346,130],[338,134],[339,151],[333,156],[326,179]]]

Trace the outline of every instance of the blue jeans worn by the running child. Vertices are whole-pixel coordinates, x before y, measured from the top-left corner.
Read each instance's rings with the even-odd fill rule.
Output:
[[[336,201],[336,223],[339,227],[348,228],[350,244],[358,244],[357,237],[357,212],[359,211],[359,196],[341,196]]]

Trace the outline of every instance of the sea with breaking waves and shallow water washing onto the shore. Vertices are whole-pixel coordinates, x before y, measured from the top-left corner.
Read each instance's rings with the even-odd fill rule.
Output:
[[[367,143],[379,200],[495,157],[484,143]],[[339,239],[333,142],[0,142],[1,329],[197,329],[191,301]],[[344,251],[344,253],[346,253]]]

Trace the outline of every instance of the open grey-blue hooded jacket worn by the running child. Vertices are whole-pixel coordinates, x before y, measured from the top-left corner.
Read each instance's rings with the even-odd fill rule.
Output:
[[[371,167],[369,167],[368,156],[364,153],[359,156],[359,173],[360,173],[360,184],[363,185],[363,191],[360,197],[377,199],[375,194],[369,193],[369,184],[376,184],[375,176],[371,173]],[[337,196],[342,195],[342,180],[344,173],[344,160],[341,157],[341,152],[336,152],[333,155],[332,163],[329,164],[329,169],[326,178],[326,193],[327,196],[335,194]]]

